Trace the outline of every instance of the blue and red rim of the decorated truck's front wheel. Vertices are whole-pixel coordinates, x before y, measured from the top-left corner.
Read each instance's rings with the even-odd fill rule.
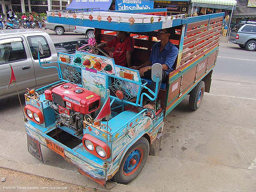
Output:
[[[123,165],[123,173],[126,176],[132,175],[136,169],[139,167],[141,163],[141,158],[142,158],[143,152],[141,149],[135,149],[125,160],[124,165]],[[132,162],[135,162],[133,164]]]

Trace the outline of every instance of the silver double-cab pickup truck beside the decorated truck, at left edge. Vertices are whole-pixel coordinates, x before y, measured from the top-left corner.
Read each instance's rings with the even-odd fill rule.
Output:
[[[87,40],[53,44],[46,32],[25,29],[2,30],[0,32],[0,99],[16,95],[15,86],[10,86],[7,90],[11,76],[10,65],[20,93],[25,92],[26,88],[39,88],[58,80],[57,70],[42,69],[39,66],[38,40],[45,50],[43,55],[40,54],[40,58],[46,61],[57,61],[59,51],[74,53],[76,45],[81,47],[87,44]]]

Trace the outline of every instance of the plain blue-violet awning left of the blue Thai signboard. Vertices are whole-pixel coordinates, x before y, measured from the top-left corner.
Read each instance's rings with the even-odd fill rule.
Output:
[[[99,8],[101,11],[109,10],[112,0],[73,0],[67,9],[90,9]]]

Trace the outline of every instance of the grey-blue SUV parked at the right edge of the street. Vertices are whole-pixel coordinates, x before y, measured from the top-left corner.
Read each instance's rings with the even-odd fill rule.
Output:
[[[229,41],[248,51],[256,50],[256,22],[241,22],[234,26]]]

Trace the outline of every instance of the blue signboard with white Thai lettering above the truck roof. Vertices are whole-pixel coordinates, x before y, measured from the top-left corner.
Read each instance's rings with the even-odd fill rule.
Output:
[[[116,0],[116,10],[153,9],[152,0]]]

